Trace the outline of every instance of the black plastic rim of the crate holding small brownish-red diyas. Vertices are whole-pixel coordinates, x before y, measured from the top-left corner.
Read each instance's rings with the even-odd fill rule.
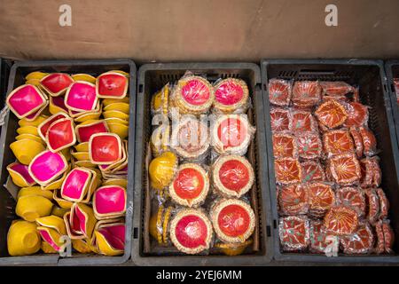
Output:
[[[261,60],[261,72],[262,72],[262,91],[264,92],[263,95],[263,106],[265,109],[265,130],[267,133],[271,133],[270,130],[270,104],[269,104],[269,91],[268,91],[268,73],[267,73],[267,67],[270,64],[280,64],[280,65],[288,65],[288,64],[293,64],[293,65],[310,65],[310,64],[324,64],[324,65],[359,65],[359,66],[376,66],[379,67],[379,75],[381,78],[381,83],[382,83],[382,92],[384,96],[384,101],[385,105],[387,108],[387,121],[388,121],[388,130],[389,130],[389,136],[391,138],[391,141],[393,141],[393,144],[397,145],[397,138],[395,136],[395,127],[394,127],[394,118],[393,114],[391,112],[391,101],[389,99],[389,95],[387,90],[387,75],[384,70],[384,61],[380,59],[262,59]],[[272,151],[269,147],[270,145],[270,135],[267,135],[266,141],[268,145],[267,149],[267,156],[268,156],[268,162],[269,162],[269,167],[270,163],[272,163]],[[396,147],[393,147],[394,151],[394,161],[395,161],[395,170],[396,173],[399,173],[399,149]],[[272,168],[274,169],[274,168]],[[271,170],[268,172],[269,175],[274,175],[273,173],[270,173]],[[275,188],[276,185],[272,185],[272,181],[274,182],[274,177],[269,178],[270,185],[269,185],[269,190],[270,190],[270,201],[272,199],[276,199],[276,193],[275,193]],[[271,201],[273,202],[273,201]],[[279,237],[278,237],[278,212],[277,212],[277,207],[270,205],[271,211],[273,214],[273,222],[275,227],[273,227],[273,235],[274,235],[274,260],[276,261],[287,261],[287,262],[301,262],[301,261],[306,261],[309,263],[369,263],[369,264],[381,264],[381,263],[391,263],[391,264],[399,264],[399,255],[397,256],[387,256],[387,255],[382,255],[382,256],[376,256],[376,255],[364,255],[364,256],[338,256],[338,257],[327,257],[327,256],[320,256],[317,254],[283,254],[280,251],[280,246],[279,246]]]

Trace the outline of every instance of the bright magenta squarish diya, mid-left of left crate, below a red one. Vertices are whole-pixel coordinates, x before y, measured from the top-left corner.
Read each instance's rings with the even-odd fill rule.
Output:
[[[29,164],[28,171],[36,183],[48,185],[52,180],[61,176],[67,167],[68,163],[62,154],[46,150],[35,156]]]

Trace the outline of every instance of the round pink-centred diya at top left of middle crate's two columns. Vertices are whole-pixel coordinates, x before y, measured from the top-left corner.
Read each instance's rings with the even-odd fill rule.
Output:
[[[214,88],[207,79],[184,75],[173,89],[169,103],[180,114],[206,114],[214,99]]]

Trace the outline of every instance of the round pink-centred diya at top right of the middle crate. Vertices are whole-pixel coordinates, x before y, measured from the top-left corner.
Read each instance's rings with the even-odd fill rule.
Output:
[[[238,114],[247,108],[249,91],[241,79],[228,78],[215,84],[215,101],[213,107],[216,113]]]

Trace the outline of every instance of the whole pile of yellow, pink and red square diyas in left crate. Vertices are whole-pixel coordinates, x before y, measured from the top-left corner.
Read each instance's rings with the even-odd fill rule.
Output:
[[[8,233],[11,256],[73,253],[120,256],[125,247],[129,74],[43,73],[7,97],[19,119],[8,165],[20,187]]]

